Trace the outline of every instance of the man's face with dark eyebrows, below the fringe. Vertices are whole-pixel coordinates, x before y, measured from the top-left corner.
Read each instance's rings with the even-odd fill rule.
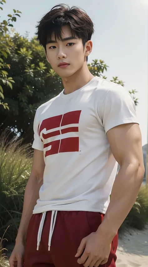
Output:
[[[60,77],[69,77],[78,71],[84,64],[85,49],[82,40],[71,38],[71,32],[68,26],[62,27],[62,41],[55,41],[54,33],[51,36],[53,42],[46,45],[47,60],[53,70]],[[65,40],[65,38],[71,38]],[[65,62],[65,65],[59,65]]]

